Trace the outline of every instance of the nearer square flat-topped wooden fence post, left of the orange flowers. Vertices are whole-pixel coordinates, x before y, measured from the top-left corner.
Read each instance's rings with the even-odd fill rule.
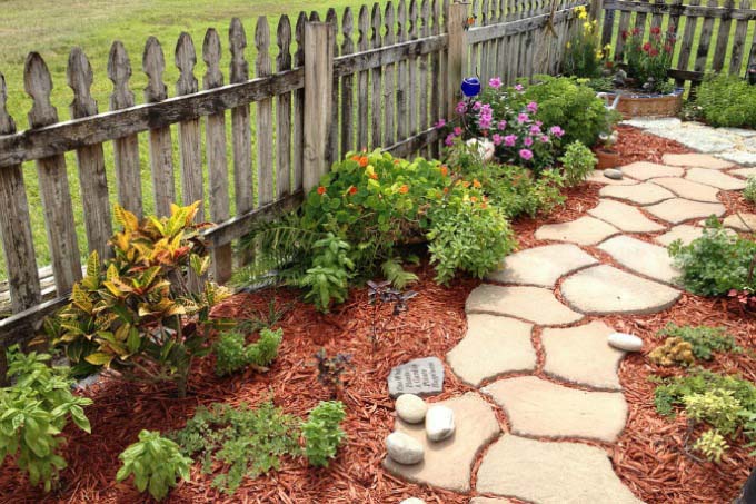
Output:
[[[326,146],[332,117],[334,37],[331,23],[308,22],[305,26],[305,194],[328,171]]]

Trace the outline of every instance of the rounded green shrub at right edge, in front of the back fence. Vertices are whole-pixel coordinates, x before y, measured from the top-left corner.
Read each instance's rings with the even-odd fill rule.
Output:
[[[712,126],[756,127],[756,87],[739,77],[707,75],[695,105]]]

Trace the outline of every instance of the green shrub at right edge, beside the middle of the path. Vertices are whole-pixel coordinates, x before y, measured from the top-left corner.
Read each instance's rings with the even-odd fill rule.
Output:
[[[683,273],[683,286],[702,296],[722,296],[756,287],[750,273],[756,243],[729,234],[716,217],[706,221],[704,235],[689,245],[669,246],[674,264]]]

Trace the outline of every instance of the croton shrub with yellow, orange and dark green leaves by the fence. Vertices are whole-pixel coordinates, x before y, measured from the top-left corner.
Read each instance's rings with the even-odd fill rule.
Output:
[[[190,287],[210,265],[199,234],[206,225],[193,224],[198,208],[172,206],[170,217],[139,223],[116,207],[123,230],[111,239],[115,257],[101,265],[92,254],[71,303],[46,320],[74,373],[113,368],[131,379],[173,382],[186,395],[189,369],[210,352],[210,329],[220,323],[210,308],[230,295],[211,283],[199,293]]]

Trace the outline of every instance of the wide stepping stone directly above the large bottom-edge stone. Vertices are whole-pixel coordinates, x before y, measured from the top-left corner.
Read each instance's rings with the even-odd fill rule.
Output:
[[[578,391],[537,376],[499,379],[481,392],[504,408],[513,434],[613,443],[627,419],[620,392]]]

